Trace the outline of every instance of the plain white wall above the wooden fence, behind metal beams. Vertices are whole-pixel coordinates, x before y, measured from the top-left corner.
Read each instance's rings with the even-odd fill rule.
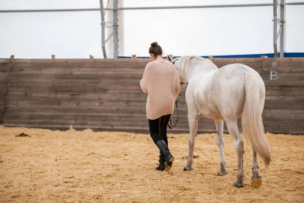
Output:
[[[124,6],[252,3],[272,1],[125,0]],[[99,0],[0,0],[1,10],[56,8],[99,8]],[[304,6],[287,6],[286,52],[304,52],[303,11]],[[148,56],[154,41],[173,55],[272,53],[272,19],[272,7],[125,11],[124,55]],[[0,13],[0,58],[102,58],[100,21],[98,11]]]

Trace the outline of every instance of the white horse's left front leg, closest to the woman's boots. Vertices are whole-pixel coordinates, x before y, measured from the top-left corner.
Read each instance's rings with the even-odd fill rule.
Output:
[[[193,114],[188,113],[188,122],[189,122],[189,154],[187,159],[187,165],[184,166],[184,171],[191,171],[193,170],[193,151],[194,151],[194,144],[195,144],[195,137],[198,132],[198,121],[199,118]]]

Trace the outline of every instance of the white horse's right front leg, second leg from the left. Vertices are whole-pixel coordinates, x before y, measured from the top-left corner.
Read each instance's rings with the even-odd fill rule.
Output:
[[[224,176],[227,174],[226,171],[226,160],[224,156],[224,147],[225,147],[225,142],[223,138],[223,129],[224,129],[224,122],[223,121],[215,121],[215,126],[216,126],[216,133],[217,133],[217,139],[216,139],[216,144],[219,148],[219,155],[220,155],[220,170],[218,172],[218,176]]]

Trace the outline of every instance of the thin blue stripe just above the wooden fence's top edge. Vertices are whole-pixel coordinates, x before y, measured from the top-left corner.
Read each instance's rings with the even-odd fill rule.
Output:
[[[274,57],[274,54],[243,54],[243,55],[220,55],[220,56],[213,56],[213,58],[260,58],[262,55],[268,56],[269,58]],[[176,58],[180,56],[174,56],[174,57]],[[208,58],[209,56],[201,56],[201,57]],[[284,57],[304,57],[304,53],[284,53]],[[131,57],[119,56],[119,58],[131,58]],[[137,56],[137,58],[149,58],[149,57]]]

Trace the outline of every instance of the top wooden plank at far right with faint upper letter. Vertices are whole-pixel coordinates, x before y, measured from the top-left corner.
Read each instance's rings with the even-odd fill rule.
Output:
[[[303,72],[304,58],[265,58],[263,71]]]

